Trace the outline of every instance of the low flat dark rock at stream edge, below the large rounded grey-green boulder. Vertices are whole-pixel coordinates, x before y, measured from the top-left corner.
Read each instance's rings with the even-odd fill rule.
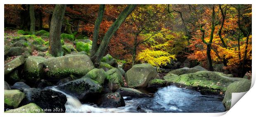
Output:
[[[123,97],[125,97],[125,96],[132,97],[132,98],[149,97],[149,95],[147,95],[137,89],[132,89],[132,88],[121,87],[121,88],[117,89],[116,92],[119,92],[119,94]]]

